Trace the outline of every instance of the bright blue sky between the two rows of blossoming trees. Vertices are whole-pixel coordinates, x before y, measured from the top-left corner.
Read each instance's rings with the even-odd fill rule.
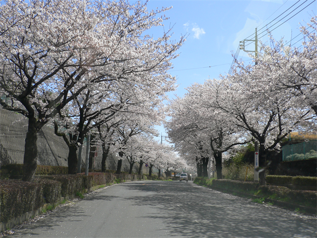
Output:
[[[204,83],[208,78],[228,73],[233,60],[232,52],[236,53],[239,42],[254,34],[256,27],[258,30],[262,27],[273,29],[287,20],[273,30],[272,35],[278,40],[282,37],[287,42],[292,40],[291,44],[294,44],[302,38],[292,39],[300,33],[300,24],[306,25],[317,14],[316,0],[150,0],[148,3],[149,10],[168,6],[173,8],[165,12],[169,19],[164,24],[166,27],[174,25],[173,38],[189,34],[178,52],[180,56],[173,60],[174,68],[170,70],[179,85],[175,92],[168,94],[170,98],[174,94],[183,96],[185,88],[195,82]],[[274,23],[276,25],[272,26]],[[261,36],[260,40],[267,42],[268,38],[264,34],[260,34],[259,38]],[[296,45],[299,46],[300,42]],[[254,49],[254,45],[249,47]],[[250,60],[243,51],[238,58]],[[166,135],[162,126],[157,128]]]

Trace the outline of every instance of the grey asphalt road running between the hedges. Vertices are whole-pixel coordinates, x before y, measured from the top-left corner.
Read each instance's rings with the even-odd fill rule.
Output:
[[[8,237],[317,238],[317,217],[190,181],[136,181],[87,195]]]

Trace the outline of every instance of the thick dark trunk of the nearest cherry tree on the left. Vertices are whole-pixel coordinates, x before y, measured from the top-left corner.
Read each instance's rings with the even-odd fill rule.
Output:
[[[38,130],[35,126],[36,119],[29,119],[28,131],[25,137],[24,145],[24,159],[23,159],[23,181],[33,181],[33,176],[37,168],[38,146],[37,146],[37,133]],[[76,164],[77,166],[77,164]]]

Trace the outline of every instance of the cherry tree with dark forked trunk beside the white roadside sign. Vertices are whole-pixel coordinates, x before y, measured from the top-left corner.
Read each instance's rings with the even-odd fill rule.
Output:
[[[259,165],[266,166],[268,151],[279,148],[279,142],[296,126],[312,119],[310,108],[294,107],[293,98],[285,94],[258,93],[265,89],[270,69],[267,65],[248,65],[240,72],[235,72],[221,80],[214,80],[219,85],[214,108],[222,110],[236,126],[248,131],[260,143]],[[265,91],[265,90],[264,90]],[[265,184],[265,170],[260,171],[260,184]]]

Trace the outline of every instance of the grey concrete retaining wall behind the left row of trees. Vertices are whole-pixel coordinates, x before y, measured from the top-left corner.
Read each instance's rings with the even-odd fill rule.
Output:
[[[23,164],[27,118],[0,108],[0,166],[5,164]],[[53,128],[44,126],[38,134],[38,164],[51,166],[67,166],[68,147],[62,137],[54,134]],[[86,146],[83,145],[82,166],[85,167]],[[95,169],[101,169],[102,148],[98,148],[95,158]],[[115,155],[108,156],[106,167],[116,170],[118,159]],[[133,172],[138,172],[138,164]],[[124,160],[121,171],[129,171],[129,163]],[[143,168],[146,173],[145,167]]]

